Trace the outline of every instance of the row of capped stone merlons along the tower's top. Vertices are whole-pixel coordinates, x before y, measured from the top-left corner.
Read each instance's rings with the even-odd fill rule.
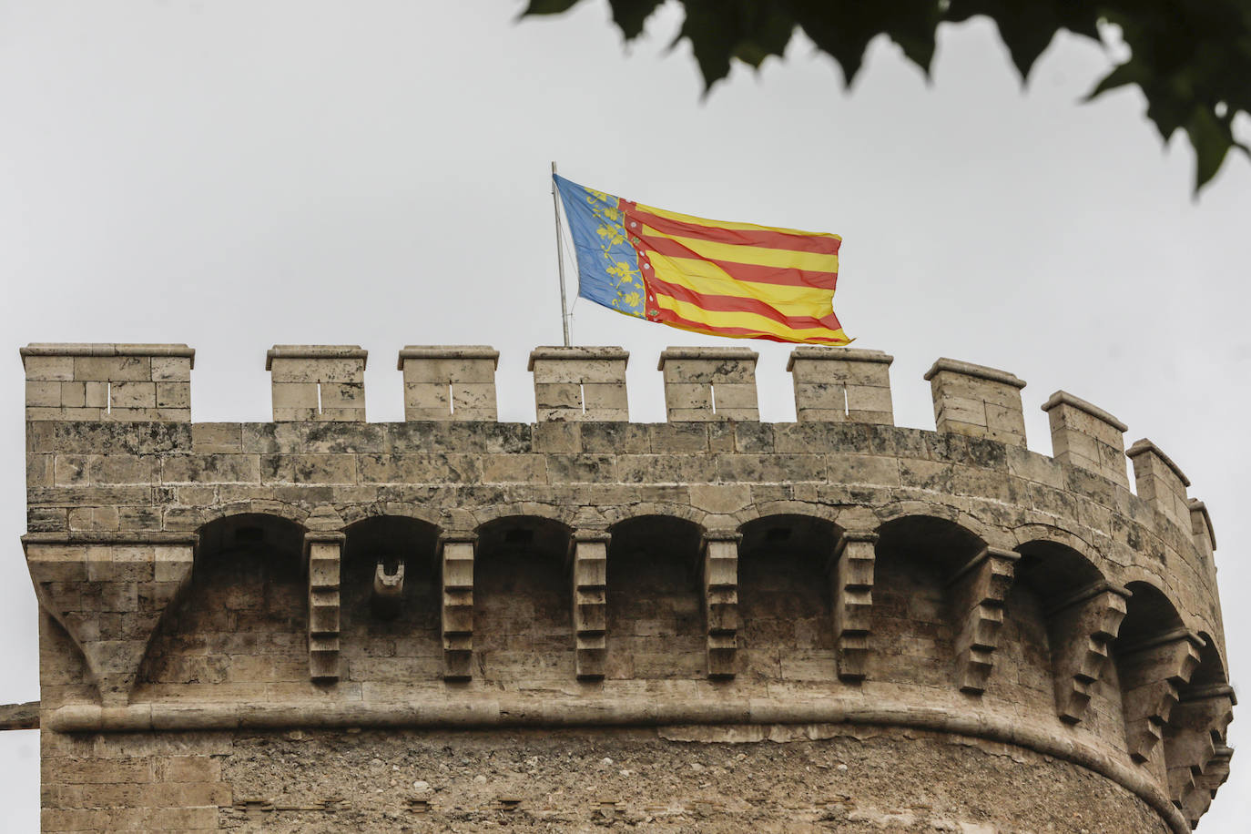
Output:
[[[661,354],[669,423],[758,421],[756,360],[746,348],[669,348]],[[21,349],[26,419],[31,423],[189,423],[195,350],[181,344],[33,344]],[[368,351],[359,345],[274,345],[265,358],[273,383],[274,423],[364,423]],[[628,420],[620,348],[537,348],[535,416],[543,421]],[[809,345],[791,353],[799,423],[894,425],[889,366],[877,350]],[[493,421],[499,351],[487,345],[408,345],[399,351],[408,421]],[[938,359],[926,373],[940,434],[961,434],[1025,446],[1021,389],[1013,374]],[[1056,461],[1128,486],[1133,461],[1138,496],[1188,528],[1190,480],[1153,443],[1125,450],[1127,426],[1067,391],[1042,405],[1051,419]]]

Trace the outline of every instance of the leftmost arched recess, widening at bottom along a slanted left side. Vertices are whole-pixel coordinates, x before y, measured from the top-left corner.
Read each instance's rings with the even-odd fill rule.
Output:
[[[286,515],[226,515],[199,529],[188,593],[149,645],[139,686],[211,686],[214,698],[309,678],[304,528]],[[155,690],[155,691],[151,691]]]

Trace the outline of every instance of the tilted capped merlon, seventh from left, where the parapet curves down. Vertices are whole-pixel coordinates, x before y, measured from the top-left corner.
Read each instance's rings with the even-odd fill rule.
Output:
[[[1025,445],[1022,380],[1003,370],[955,359],[936,361],[926,371],[926,379],[933,393],[938,431]]]

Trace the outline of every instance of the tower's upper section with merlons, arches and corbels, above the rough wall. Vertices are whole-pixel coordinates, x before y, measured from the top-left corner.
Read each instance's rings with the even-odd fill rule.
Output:
[[[270,423],[193,423],[185,345],[21,355],[59,780],[79,734],[867,724],[1080,765],[1180,833],[1228,771],[1211,518],[1066,391],[1047,456],[1025,381],[952,359],[934,430],[896,426],[873,350],[794,349],[797,421],[762,423],[754,351],[671,348],[652,424],[613,346],[535,349],[534,423],[484,345],[403,348],[397,423],[355,345],[275,345]]]

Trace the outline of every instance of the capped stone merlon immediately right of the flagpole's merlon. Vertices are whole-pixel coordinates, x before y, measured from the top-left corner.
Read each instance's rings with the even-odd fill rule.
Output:
[[[756,360],[747,348],[669,348],[657,369],[664,374],[669,421],[759,420]]]

